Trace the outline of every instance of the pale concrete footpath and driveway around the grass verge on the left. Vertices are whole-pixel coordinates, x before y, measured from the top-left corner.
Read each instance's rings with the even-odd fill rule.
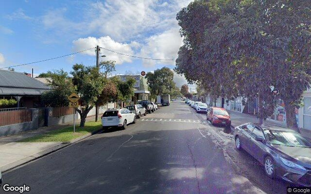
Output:
[[[95,120],[95,117],[88,117],[86,121]],[[76,123],[79,123],[77,120]],[[20,132],[14,135],[0,137],[0,171],[4,172],[17,167],[26,162],[30,162],[46,155],[50,152],[56,151],[62,147],[68,146],[71,143],[77,142],[81,139],[90,136],[87,134],[80,138],[72,140],[70,143],[63,142],[40,142],[40,143],[29,143],[29,142],[19,142],[20,140],[34,137],[36,135],[45,134],[52,130],[62,129],[72,126],[72,123],[60,124],[51,127],[43,127],[35,130],[29,130]]]

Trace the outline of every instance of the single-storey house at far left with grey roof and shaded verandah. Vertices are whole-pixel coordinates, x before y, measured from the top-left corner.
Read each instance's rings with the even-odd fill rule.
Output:
[[[40,107],[42,93],[50,89],[24,73],[0,69],[0,98],[15,98],[17,107]]]

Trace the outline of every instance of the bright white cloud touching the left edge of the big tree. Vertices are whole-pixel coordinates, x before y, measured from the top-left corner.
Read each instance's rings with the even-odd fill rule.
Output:
[[[179,29],[172,28],[147,38],[146,44],[140,50],[140,55],[154,59],[176,59],[178,49],[181,45],[182,38],[180,37]],[[175,61],[143,60],[144,66],[155,65],[155,63],[174,65]]]

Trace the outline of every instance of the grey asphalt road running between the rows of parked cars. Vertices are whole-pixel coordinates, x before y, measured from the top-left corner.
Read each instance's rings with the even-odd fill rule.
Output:
[[[261,169],[254,163],[241,165],[254,170],[239,170],[243,160],[254,160],[230,151],[231,137],[222,132],[227,129],[211,126],[205,118],[174,101],[126,130],[93,135],[11,170],[3,181],[26,184],[31,187],[27,193],[35,194],[274,193],[267,188],[266,181],[273,186],[270,179],[263,173],[256,177]],[[248,172],[255,173],[255,180]],[[276,191],[283,193],[284,184],[279,184]]]

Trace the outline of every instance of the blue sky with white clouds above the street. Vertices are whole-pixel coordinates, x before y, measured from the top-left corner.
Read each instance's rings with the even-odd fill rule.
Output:
[[[147,58],[176,59],[182,44],[176,13],[190,0],[12,0],[0,6],[0,67],[100,47]],[[174,61],[141,60],[101,50],[117,64],[115,74],[153,71]],[[35,74],[95,64],[95,50],[15,67]],[[177,85],[185,83],[176,76]]]

